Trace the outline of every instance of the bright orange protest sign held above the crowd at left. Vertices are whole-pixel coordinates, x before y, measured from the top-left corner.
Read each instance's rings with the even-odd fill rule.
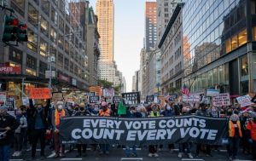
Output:
[[[30,99],[49,99],[51,92],[49,88],[32,88],[30,89]]]

